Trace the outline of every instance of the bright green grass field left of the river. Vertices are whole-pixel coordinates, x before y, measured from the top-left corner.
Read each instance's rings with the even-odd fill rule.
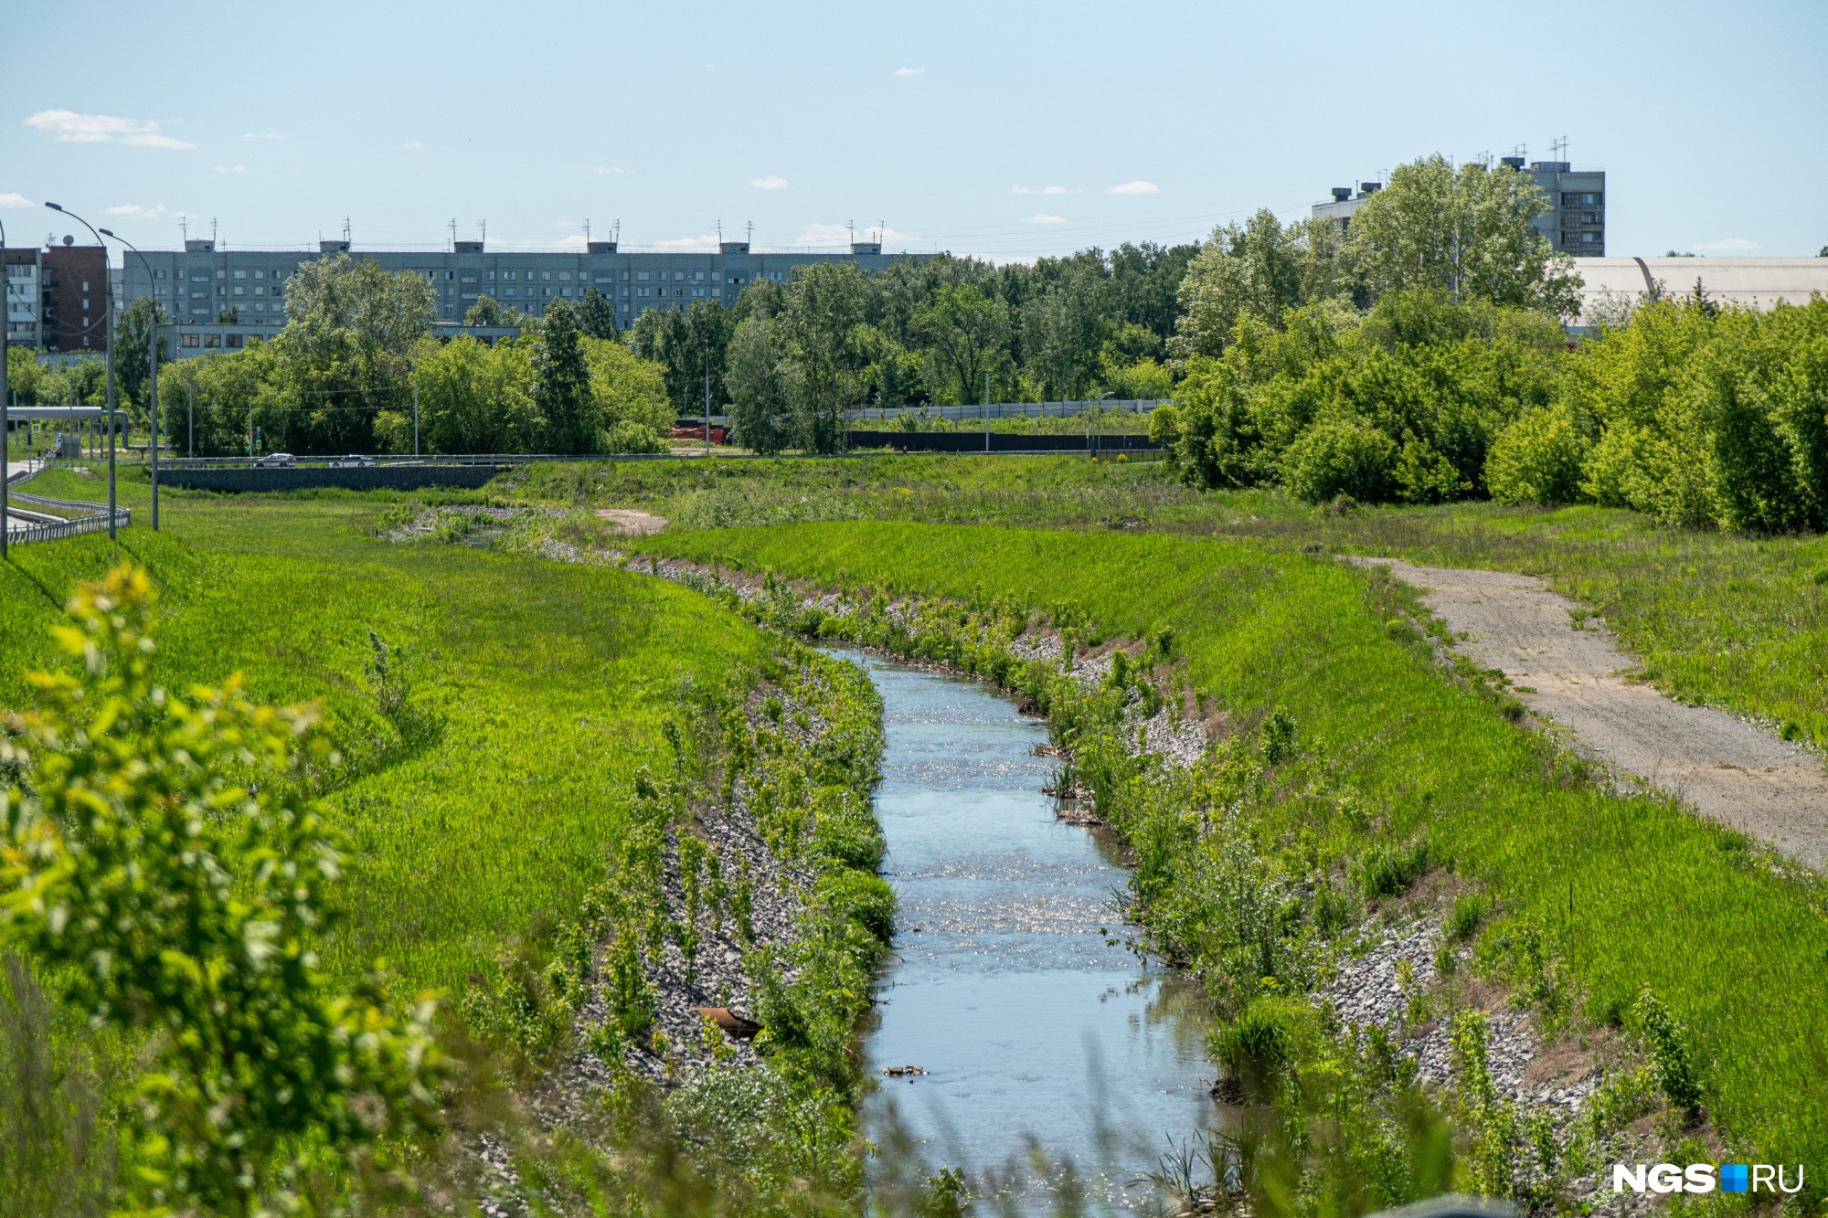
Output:
[[[42,494],[106,496],[68,472]],[[161,593],[159,675],[174,689],[241,669],[256,699],[316,700],[362,772],[329,796],[353,845],[349,920],[327,955],[384,955],[411,984],[461,991],[497,944],[569,916],[601,880],[638,766],[671,764],[662,735],[682,680],[717,686],[766,638],[696,593],[607,569],[393,545],[367,534],[397,496],[166,496],[143,523],[24,545],[0,567],[0,708],[73,582],[144,563]],[[135,521],[141,481],[122,481]],[[369,631],[404,658],[442,739],[400,755],[378,713]]]

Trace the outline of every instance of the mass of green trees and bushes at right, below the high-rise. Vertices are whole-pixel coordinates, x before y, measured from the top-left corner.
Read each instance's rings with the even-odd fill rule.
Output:
[[[1548,207],[1508,166],[1428,157],[1344,232],[1269,212],[1214,232],[1152,435],[1196,485],[1311,503],[1828,527],[1828,302],[1759,313],[1658,285],[1570,342],[1576,263],[1530,225]]]

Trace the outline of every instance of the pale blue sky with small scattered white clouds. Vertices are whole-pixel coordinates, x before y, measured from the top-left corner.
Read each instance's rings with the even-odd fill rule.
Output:
[[[1442,152],[1605,168],[1609,252],[1828,245],[1828,5],[7,5],[0,223],[1029,260]]]

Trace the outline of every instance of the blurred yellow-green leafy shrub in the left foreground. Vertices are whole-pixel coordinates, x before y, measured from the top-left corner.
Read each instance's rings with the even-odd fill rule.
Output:
[[[60,971],[73,1013],[155,1033],[132,1202],[265,1214],[431,1127],[431,1002],[318,973],[340,856],[307,797],[316,713],[254,706],[239,675],[157,688],[152,602],[130,567],[79,585],[57,631],[77,673],[35,675],[40,710],[9,724],[0,929]]]

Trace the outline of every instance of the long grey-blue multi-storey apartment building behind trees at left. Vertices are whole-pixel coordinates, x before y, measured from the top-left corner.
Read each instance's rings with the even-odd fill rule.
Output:
[[[550,304],[576,302],[592,287],[611,300],[618,324],[631,326],[647,309],[684,313],[695,300],[733,304],[755,280],[786,282],[793,267],[806,263],[856,262],[879,271],[896,260],[883,254],[879,241],[856,241],[848,254],[751,252],[748,241],[724,241],[713,254],[627,252],[616,241],[565,252],[490,252],[483,241],[453,241],[444,252],[356,251],[349,241],[318,241],[314,252],[274,252],[219,251],[212,240],[194,240],[183,251],[148,251],[146,263],[128,256],[117,272],[121,302],[150,294],[165,305],[179,331],[175,355],[243,346],[249,337],[272,337],[285,326],[285,280],[302,263],[338,254],[389,272],[422,274],[437,296],[439,326],[461,326],[483,296],[539,316]]]

